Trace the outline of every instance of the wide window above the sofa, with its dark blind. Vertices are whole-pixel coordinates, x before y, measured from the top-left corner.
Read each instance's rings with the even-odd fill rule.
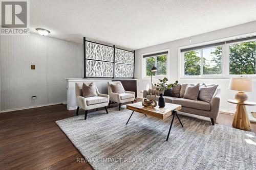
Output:
[[[181,50],[181,77],[256,76],[256,36]]]

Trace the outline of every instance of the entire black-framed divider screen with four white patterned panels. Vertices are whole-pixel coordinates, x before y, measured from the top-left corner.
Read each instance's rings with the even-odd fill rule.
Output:
[[[83,37],[84,77],[133,78],[135,53]]]

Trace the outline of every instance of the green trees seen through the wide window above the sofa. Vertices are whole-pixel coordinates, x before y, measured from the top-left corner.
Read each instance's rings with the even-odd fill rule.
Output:
[[[232,44],[229,46],[229,74],[250,75],[255,72],[256,41]],[[212,64],[206,64],[203,56],[203,74],[222,74],[222,47],[215,47],[210,52]],[[185,75],[200,75],[200,51],[185,52]]]

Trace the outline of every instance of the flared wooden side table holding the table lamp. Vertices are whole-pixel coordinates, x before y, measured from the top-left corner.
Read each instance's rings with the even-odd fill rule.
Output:
[[[228,100],[227,102],[232,104],[237,104],[236,113],[234,114],[232,126],[238,129],[250,130],[251,129],[250,120],[248,118],[245,106],[253,106],[253,105],[256,105],[256,103],[247,102],[247,101],[240,103],[236,100]]]

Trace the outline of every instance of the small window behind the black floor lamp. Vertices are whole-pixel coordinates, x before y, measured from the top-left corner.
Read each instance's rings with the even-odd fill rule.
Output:
[[[167,56],[168,56],[168,52],[143,55],[143,64],[144,64],[143,77],[150,77],[151,74],[153,74],[153,76],[155,77],[166,77],[167,76]],[[151,71],[153,66],[157,67],[156,72]]]

